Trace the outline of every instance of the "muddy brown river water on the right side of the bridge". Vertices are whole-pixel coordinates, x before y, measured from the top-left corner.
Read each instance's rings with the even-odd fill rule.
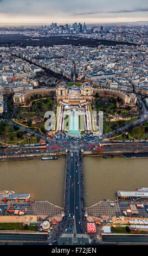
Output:
[[[118,190],[148,187],[148,159],[83,157],[86,206],[115,199]]]

